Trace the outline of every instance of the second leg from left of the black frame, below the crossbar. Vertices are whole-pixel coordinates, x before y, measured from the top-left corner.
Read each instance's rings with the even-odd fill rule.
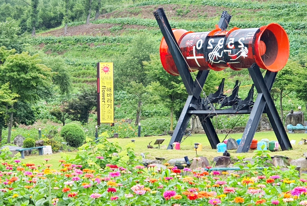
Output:
[[[208,115],[198,115],[199,120],[201,122],[201,125],[204,128],[204,131],[207,135],[207,138],[209,140],[209,143],[212,147],[212,149],[216,149],[216,145],[220,143],[220,140],[216,134],[216,131],[214,129],[214,126],[211,122],[211,119],[208,117]]]

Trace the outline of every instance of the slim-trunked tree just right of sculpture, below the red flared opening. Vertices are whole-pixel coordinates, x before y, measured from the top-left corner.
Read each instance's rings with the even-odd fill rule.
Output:
[[[297,88],[300,70],[300,64],[289,60],[286,66],[277,73],[274,88],[279,90],[279,107],[282,120],[284,119],[282,99]]]

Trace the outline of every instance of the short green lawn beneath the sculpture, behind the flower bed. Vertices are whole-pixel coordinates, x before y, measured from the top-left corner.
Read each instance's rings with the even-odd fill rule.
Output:
[[[218,135],[220,140],[223,140],[225,138],[225,134],[219,134]],[[272,155],[284,155],[288,156],[291,159],[297,159],[303,157],[303,153],[307,151],[307,145],[297,145],[297,143],[301,140],[301,138],[306,138],[307,134],[288,134],[290,140],[296,140],[296,145],[293,146],[293,150],[290,151],[278,151],[272,153]],[[241,138],[241,134],[231,134],[231,138]],[[147,149],[147,145],[149,142],[152,141],[151,145],[157,138],[163,138],[165,141],[162,143],[162,146],[165,145],[164,148],[158,150],[158,149]],[[269,140],[277,140],[274,132],[257,132],[255,134],[255,138],[260,141],[263,138],[267,138]],[[110,142],[114,141],[115,139],[109,139]],[[221,153],[217,153],[216,150],[212,150],[211,146],[208,142],[208,138],[205,134],[194,134],[192,136],[189,136],[185,139],[184,142],[181,144],[181,150],[166,150],[166,145],[169,144],[170,137],[169,136],[155,136],[155,137],[141,137],[141,138],[134,138],[135,140],[135,152],[136,154],[144,153],[146,155],[146,158],[148,159],[155,159],[155,157],[165,157],[167,160],[172,158],[181,158],[184,156],[188,156],[190,159],[195,157],[195,151],[194,143],[198,142],[203,145],[203,150],[200,152],[197,152],[197,155],[199,156],[205,156],[208,158],[209,161],[213,160],[213,157],[221,155]],[[124,148],[128,143],[131,142],[131,138],[127,139],[118,139],[119,145]],[[154,145],[157,146],[157,145]],[[253,150],[250,150],[249,153],[241,153],[237,154],[235,153],[236,150],[230,150],[231,157],[237,157],[237,156],[245,156],[245,157],[252,157],[253,156]],[[76,152],[68,152],[67,154],[74,157],[76,155]],[[52,164],[53,169],[57,169],[59,162],[58,160],[61,159],[61,154],[56,153],[52,155],[44,155],[44,156],[38,156],[38,155],[32,155],[32,156],[26,156],[24,162],[33,162],[35,164],[41,164],[44,162],[44,158],[51,159],[48,163]]]

